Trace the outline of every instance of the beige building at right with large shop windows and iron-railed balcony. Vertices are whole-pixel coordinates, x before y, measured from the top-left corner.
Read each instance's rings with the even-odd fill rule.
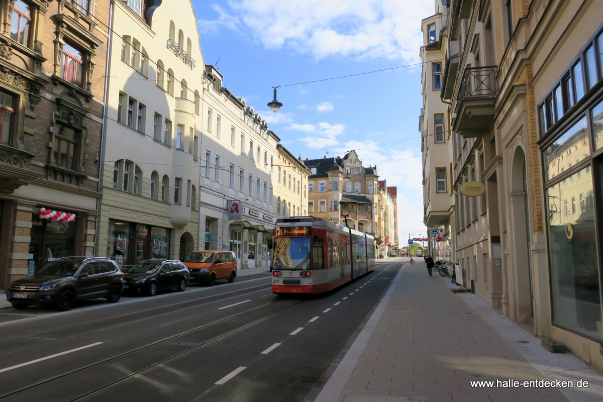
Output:
[[[435,9],[464,284],[601,369],[599,4],[438,0]],[[485,192],[463,195],[468,181]]]

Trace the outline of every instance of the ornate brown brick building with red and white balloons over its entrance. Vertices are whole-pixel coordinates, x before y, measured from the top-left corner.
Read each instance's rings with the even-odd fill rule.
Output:
[[[0,286],[93,254],[109,1],[0,2]]]

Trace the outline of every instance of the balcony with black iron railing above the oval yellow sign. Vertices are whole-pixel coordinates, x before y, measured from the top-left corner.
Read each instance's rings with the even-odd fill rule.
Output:
[[[498,93],[497,67],[465,69],[456,97],[453,129],[463,137],[479,137],[492,128]]]

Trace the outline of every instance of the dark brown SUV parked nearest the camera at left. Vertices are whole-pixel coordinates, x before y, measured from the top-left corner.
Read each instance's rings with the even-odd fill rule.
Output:
[[[6,298],[15,309],[54,305],[66,311],[83,299],[104,297],[115,303],[123,289],[124,274],[115,261],[106,257],[63,257],[34,275],[13,281],[6,289]]]

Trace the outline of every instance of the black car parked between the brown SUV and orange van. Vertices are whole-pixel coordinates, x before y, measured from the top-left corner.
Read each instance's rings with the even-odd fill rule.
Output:
[[[154,296],[157,291],[182,292],[189,281],[189,270],[178,260],[144,260],[125,271],[125,290]]]

